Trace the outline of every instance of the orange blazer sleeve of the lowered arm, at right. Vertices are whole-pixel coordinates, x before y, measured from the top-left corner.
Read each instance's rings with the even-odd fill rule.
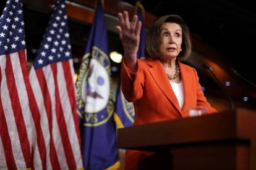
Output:
[[[207,102],[207,99],[206,99],[205,95],[203,94],[202,86],[199,83],[197,71],[195,70],[195,68],[193,68],[193,70],[194,70],[196,83],[197,83],[197,106],[203,105],[208,108],[208,113],[216,113],[217,111],[215,110],[215,108],[211,107],[210,103]]]

